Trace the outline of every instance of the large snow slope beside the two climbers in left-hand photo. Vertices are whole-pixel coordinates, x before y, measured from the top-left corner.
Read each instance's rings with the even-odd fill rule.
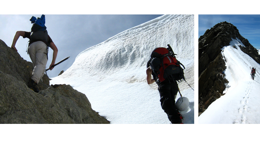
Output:
[[[156,83],[146,82],[146,63],[156,47],[170,44],[194,88],[194,15],[163,15],[81,52],[51,84],[69,84],[86,94],[92,109],[112,124],[169,124]],[[194,91],[179,83],[190,106],[181,112],[194,123]],[[179,98],[179,94],[177,95]]]

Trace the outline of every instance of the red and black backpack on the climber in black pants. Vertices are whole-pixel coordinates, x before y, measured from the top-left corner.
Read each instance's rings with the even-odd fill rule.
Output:
[[[173,79],[174,81],[185,80],[182,65],[175,57],[170,45],[169,48],[158,47],[151,53],[151,59],[148,61],[159,81]],[[163,65],[163,66],[162,66]],[[183,66],[183,65],[182,65]],[[185,69],[185,67],[183,66]]]

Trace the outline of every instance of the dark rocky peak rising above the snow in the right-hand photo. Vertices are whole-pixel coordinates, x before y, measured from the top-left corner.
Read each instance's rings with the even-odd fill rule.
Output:
[[[213,101],[220,98],[226,88],[224,83],[228,81],[219,74],[226,69],[221,49],[228,46],[232,38],[241,40],[246,47],[241,46],[240,49],[260,63],[257,49],[242,37],[237,27],[231,23],[218,23],[208,29],[198,40],[199,112],[203,112]]]

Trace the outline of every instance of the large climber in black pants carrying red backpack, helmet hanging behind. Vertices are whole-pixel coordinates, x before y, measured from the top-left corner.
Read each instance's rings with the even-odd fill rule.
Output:
[[[148,84],[157,83],[161,107],[170,122],[172,124],[183,124],[182,115],[175,107],[175,98],[179,91],[177,81],[185,80],[185,78],[180,66],[182,64],[176,59],[175,55],[169,44],[168,48],[154,49],[151,53],[151,59],[147,62],[146,81]],[[185,69],[184,66],[183,68]],[[151,75],[153,75],[153,78]]]

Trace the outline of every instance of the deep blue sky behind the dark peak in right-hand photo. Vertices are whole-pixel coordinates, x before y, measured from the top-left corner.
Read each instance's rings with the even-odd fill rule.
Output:
[[[260,49],[260,15],[198,15],[198,38],[207,29],[224,21],[236,26],[252,46]]]

